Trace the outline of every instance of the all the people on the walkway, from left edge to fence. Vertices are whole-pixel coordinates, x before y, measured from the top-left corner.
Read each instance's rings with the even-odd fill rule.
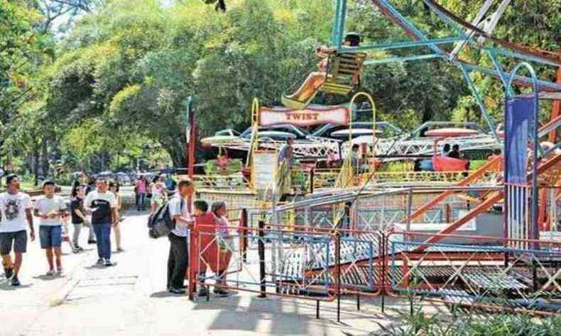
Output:
[[[7,189],[0,194],[0,254],[6,279],[12,286],[20,286],[19,271],[23,254],[27,251],[28,237],[36,238],[34,218],[38,218],[38,232],[41,249],[45,250],[46,276],[62,276],[63,263],[61,247],[64,242],[72,252],[80,253],[80,235],[88,230],[89,244],[97,245],[99,267],[114,266],[111,260],[111,231],[114,233],[116,250],[121,247],[120,223],[122,198],[119,184],[98,178],[88,185],[79,181],[72,186],[70,207],[64,198],[56,194],[54,181],[43,181],[43,195],[31,201],[28,194],[20,190],[20,179],[15,174],[6,177]],[[232,257],[233,240],[229,237],[227,205],[219,201],[212,206],[205,201],[193,201],[195,185],[189,179],[182,179],[174,185],[176,192],[168,198],[168,186],[163,177],[156,177],[148,183],[146,179],[136,182],[137,210],[143,209],[143,198],[151,191],[151,213],[168,203],[170,218],[175,228],[168,235],[170,242],[168,257],[167,290],[170,293],[185,293],[185,279],[189,267],[189,233],[197,230],[200,235],[200,254],[195,273],[200,282],[207,279],[207,268],[216,279],[214,293],[229,295],[226,274]],[[69,221],[72,223],[70,236]],[[218,238],[218,239],[217,239]],[[13,252],[13,258],[12,258]],[[198,295],[207,295],[207,288],[200,286]]]

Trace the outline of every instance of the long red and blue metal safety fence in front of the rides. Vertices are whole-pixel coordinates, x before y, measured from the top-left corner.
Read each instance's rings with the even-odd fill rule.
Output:
[[[561,312],[561,241],[398,231],[249,226],[239,212],[226,233],[198,225],[190,234],[189,294],[219,286],[320,302],[386,296],[450,306],[548,315]],[[252,242],[256,248],[251,248]],[[528,246],[530,248],[520,248]],[[202,272],[203,269],[209,271]]]

